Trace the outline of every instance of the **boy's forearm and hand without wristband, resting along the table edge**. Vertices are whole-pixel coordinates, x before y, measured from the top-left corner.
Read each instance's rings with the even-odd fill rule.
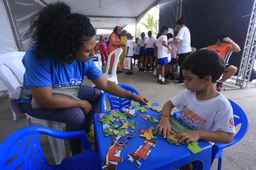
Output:
[[[179,142],[186,140],[187,143],[190,141],[197,141],[199,139],[214,143],[231,143],[234,139],[234,135],[234,133],[227,133],[223,131],[188,130],[179,131],[175,137]]]

